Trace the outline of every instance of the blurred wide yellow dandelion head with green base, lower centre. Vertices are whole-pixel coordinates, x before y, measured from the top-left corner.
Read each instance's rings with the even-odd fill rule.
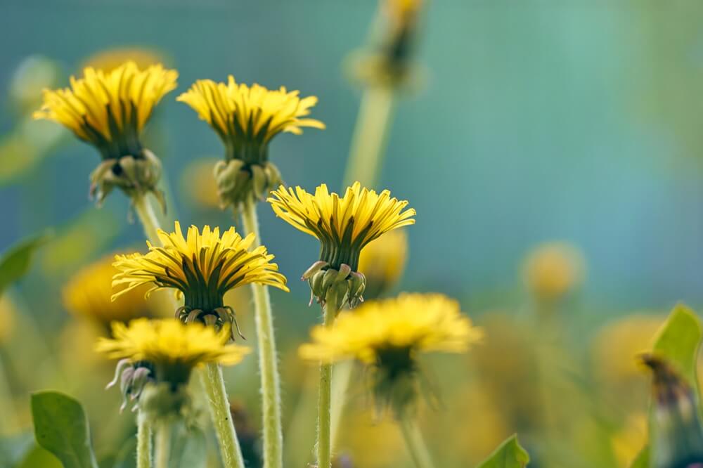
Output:
[[[396,415],[417,393],[418,354],[463,353],[482,337],[462,315],[459,304],[442,294],[401,294],[368,301],[354,313],[342,314],[334,327],[318,325],[312,342],[300,347],[308,360],[356,359],[373,369],[378,404]]]

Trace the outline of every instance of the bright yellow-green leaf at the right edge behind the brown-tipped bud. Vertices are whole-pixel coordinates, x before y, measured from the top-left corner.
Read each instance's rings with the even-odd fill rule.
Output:
[[[698,388],[697,360],[703,332],[695,312],[678,304],[654,339],[652,352],[665,358],[693,388]]]

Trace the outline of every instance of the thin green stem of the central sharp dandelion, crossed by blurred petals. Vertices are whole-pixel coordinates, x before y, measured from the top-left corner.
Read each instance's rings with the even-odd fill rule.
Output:
[[[332,327],[337,317],[337,297],[330,288],[323,308],[325,327]],[[318,394],[317,413],[317,468],[330,468],[332,465],[331,438],[331,403],[332,403],[332,364],[320,363],[320,390]]]

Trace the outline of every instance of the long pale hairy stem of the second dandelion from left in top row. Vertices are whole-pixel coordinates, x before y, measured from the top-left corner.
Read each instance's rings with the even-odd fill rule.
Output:
[[[242,223],[247,233],[256,239],[252,247],[261,243],[256,202],[250,197],[242,210]],[[280,420],[280,377],[276,358],[276,339],[273,336],[273,314],[269,287],[252,283],[254,292],[254,317],[257,325],[259,348],[259,374],[262,386],[262,412],[264,417],[264,468],[283,467],[283,429]]]

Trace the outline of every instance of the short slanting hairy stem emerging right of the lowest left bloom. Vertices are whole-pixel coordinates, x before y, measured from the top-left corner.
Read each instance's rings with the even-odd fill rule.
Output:
[[[237,433],[234,430],[227,392],[222,378],[222,368],[219,364],[205,365],[202,372],[202,386],[205,387],[207,394],[207,403],[215,427],[215,434],[217,434],[224,468],[244,468],[244,457],[242,449],[239,447]]]

